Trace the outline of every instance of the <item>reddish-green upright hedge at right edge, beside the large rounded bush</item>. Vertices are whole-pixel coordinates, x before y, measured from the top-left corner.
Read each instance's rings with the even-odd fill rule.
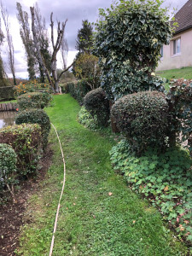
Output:
[[[166,88],[170,112],[171,143],[176,144],[182,132],[183,141],[192,136],[192,80],[173,79]],[[189,143],[189,150],[192,151]]]

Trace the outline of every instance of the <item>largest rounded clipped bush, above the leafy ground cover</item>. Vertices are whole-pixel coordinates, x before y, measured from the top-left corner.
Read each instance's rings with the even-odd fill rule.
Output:
[[[163,93],[143,91],[124,96],[114,103],[111,113],[137,152],[165,145],[168,103]]]

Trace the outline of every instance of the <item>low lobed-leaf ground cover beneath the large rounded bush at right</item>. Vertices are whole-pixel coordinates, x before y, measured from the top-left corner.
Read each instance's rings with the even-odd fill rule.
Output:
[[[151,150],[136,157],[125,140],[110,151],[114,169],[125,174],[132,190],[145,195],[172,223],[178,234],[192,242],[192,160],[187,151]]]

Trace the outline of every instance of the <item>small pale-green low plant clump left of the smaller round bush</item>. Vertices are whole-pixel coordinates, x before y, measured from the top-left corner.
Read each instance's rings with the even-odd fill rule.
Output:
[[[96,117],[92,116],[84,106],[79,111],[78,119],[81,125],[84,125],[84,127],[89,128],[90,130],[96,130],[98,126]]]

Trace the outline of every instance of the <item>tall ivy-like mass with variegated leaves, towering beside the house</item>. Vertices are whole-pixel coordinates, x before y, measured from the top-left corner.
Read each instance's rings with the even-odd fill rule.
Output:
[[[119,1],[100,9],[94,55],[102,68],[102,89],[110,99],[141,90],[158,90],[154,76],[160,47],[172,38],[170,16],[162,1]]]

